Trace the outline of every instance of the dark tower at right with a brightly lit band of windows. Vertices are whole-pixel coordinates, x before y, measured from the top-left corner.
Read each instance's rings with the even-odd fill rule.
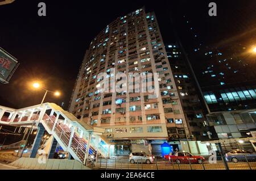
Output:
[[[196,30],[193,19],[184,15],[182,22],[180,28],[186,31],[180,37],[183,45],[189,42],[186,48],[189,61],[210,112],[256,108],[256,53],[253,50],[256,36],[255,31],[248,31],[255,30],[255,25],[239,24],[242,31],[205,43],[207,38]]]

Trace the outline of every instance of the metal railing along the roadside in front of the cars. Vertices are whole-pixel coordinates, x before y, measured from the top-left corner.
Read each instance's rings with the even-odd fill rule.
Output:
[[[98,158],[90,167],[104,170],[256,170],[256,161],[247,157],[227,160],[225,156],[220,156],[213,161],[205,158],[201,164],[190,159],[181,162],[154,159],[154,162],[147,164],[140,159],[130,163],[129,159]]]

